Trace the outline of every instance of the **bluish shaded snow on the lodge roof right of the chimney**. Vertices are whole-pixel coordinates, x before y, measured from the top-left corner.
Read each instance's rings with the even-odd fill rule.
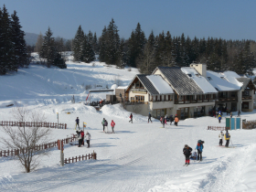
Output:
[[[240,86],[229,82],[224,74],[207,70],[208,82],[218,91],[239,91]]]

